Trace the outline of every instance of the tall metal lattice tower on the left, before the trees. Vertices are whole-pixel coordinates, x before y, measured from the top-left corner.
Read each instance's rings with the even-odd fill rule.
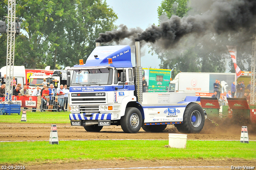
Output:
[[[12,77],[14,75],[14,50],[15,50],[15,21],[16,0],[8,0],[7,26],[7,56],[6,56],[6,98],[5,101],[12,103]]]

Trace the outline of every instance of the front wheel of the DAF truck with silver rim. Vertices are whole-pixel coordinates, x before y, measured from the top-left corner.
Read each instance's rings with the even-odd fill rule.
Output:
[[[142,125],[142,116],[137,108],[126,108],[120,120],[121,128],[125,133],[138,133]]]

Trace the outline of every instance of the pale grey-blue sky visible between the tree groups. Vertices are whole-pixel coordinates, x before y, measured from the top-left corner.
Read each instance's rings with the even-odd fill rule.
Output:
[[[117,14],[118,19],[115,24],[124,24],[128,28],[140,27],[146,30],[152,24],[158,25],[157,8],[162,0],[106,0]],[[159,68],[160,59],[157,55],[148,54],[150,48],[142,48],[145,56],[141,56],[141,66],[143,68]],[[132,54],[134,55],[134,54]],[[132,64],[135,66],[135,56],[132,56]]]

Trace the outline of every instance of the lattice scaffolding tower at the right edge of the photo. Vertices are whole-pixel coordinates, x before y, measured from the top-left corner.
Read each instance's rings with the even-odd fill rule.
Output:
[[[256,103],[256,34],[253,35],[252,39],[252,67],[251,67],[251,105],[255,105]]]

